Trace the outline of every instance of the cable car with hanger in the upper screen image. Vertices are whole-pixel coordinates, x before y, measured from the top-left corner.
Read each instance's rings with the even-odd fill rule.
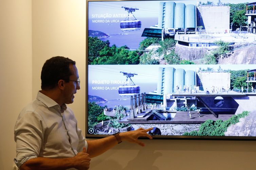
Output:
[[[122,31],[137,31],[141,29],[141,21],[137,20],[132,12],[135,10],[139,10],[138,8],[129,8],[122,6],[122,8],[125,8],[125,10],[128,11],[128,17],[125,18],[124,21],[120,22],[120,28]]]

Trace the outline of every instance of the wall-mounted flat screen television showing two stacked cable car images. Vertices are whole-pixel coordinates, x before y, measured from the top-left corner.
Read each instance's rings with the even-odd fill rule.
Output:
[[[255,140],[255,5],[88,0],[86,138]]]

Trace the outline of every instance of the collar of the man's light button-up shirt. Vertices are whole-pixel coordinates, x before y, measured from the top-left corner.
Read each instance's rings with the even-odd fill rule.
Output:
[[[39,101],[41,101],[42,103],[44,103],[47,107],[54,107],[54,106],[57,105],[58,108],[60,109],[60,113],[63,113],[65,110],[67,110],[66,104],[62,104],[61,106],[59,106],[59,104],[56,101],[54,101],[50,97],[42,94],[41,92],[37,93],[37,97],[36,98]]]

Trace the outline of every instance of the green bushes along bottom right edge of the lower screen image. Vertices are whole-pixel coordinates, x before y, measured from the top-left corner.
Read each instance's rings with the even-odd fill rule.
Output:
[[[216,120],[213,121],[211,119],[206,120],[199,127],[199,130],[185,132],[184,136],[224,136],[224,132],[227,131],[227,128],[239,122],[239,119],[245,116],[248,116],[250,112],[243,111],[241,114],[233,115],[230,119],[222,121]]]

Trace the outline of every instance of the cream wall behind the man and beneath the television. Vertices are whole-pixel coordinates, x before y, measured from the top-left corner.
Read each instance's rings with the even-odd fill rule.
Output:
[[[40,90],[40,70],[52,56],[62,55],[77,62],[81,89],[69,106],[85,135],[86,2],[33,0],[32,16],[29,0],[0,2],[0,54],[1,59],[4,58],[1,60],[0,169],[10,170],[15,157],[13,127],[16,118],[21,108],[36,97]],[[251,170],[256,167],[256,141],[144,142],[145,147],[123,142],[93,158],[90,169]]]

